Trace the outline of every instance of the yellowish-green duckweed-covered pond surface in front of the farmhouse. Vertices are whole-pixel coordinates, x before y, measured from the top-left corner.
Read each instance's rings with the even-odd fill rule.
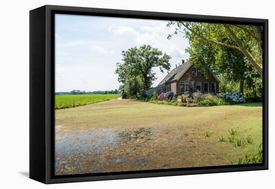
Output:
[[[114,99],[58,109],[55,117],[56,174],[237,164],[262,141],[261,103],[178,107]]]

